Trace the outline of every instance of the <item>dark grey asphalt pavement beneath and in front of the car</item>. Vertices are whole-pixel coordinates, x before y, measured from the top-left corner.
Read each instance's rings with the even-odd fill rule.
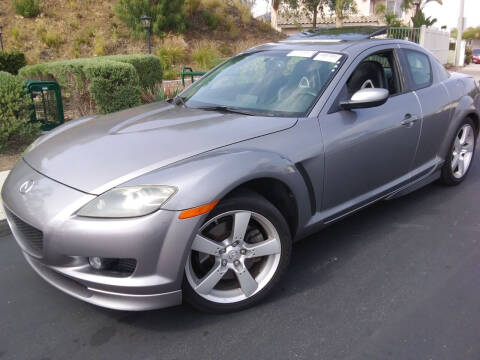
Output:
[[[297,243],[282,286],[227,315],[83,303],[0,237],[0,359],[479,359],[479,165]]]

